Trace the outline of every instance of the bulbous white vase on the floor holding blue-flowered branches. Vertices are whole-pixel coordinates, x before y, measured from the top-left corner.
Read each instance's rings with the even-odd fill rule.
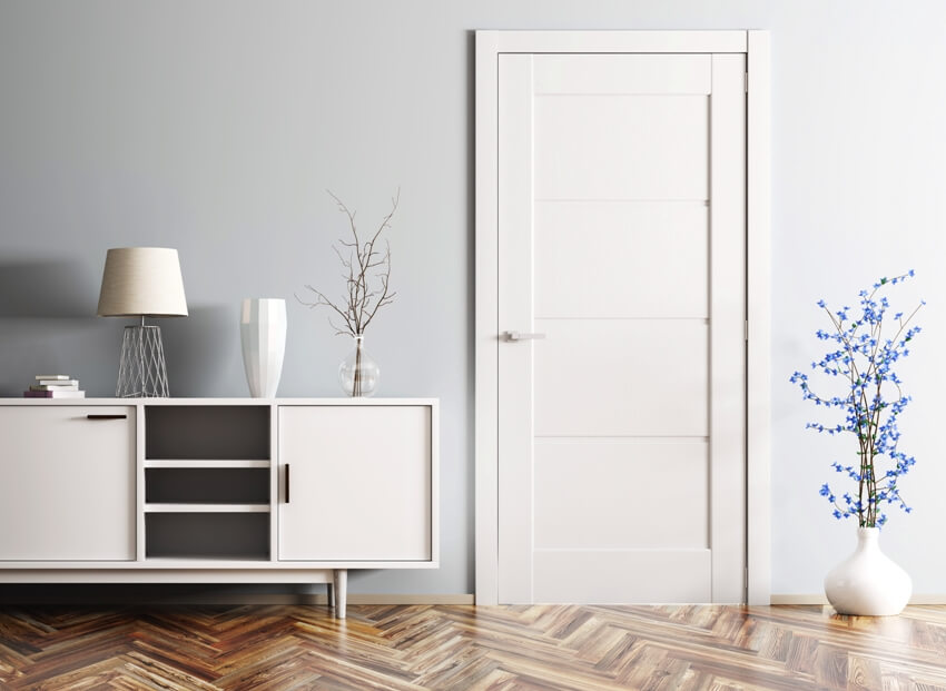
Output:
[[[857,529],[857,549],[825,576],[825,594],[838,614],[889,616],[910,599],[913,581],[878,543],[880,529]]]

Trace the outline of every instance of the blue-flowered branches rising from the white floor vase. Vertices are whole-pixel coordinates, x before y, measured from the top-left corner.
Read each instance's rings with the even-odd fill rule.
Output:
[[[850,307],[831,312],[825,300],[818,300],[818,307],[828,314],[834,330],[818,329],[815,335],[819,340],[832,342],[836,346],[820,361],[812,362],[811,369],[827,375],[829,381],[836,377],[847,379],[841,395],[816,394],[808,384],[808,375],[801,372],[796,372],[790,378],[801,388],[806,401],[814,402],[816,406],[839,408],[845,414],[844,423],[825,425],[809,422],[806,428],[829,435],[849,433],[857,437],[857,462],[831,464],[835,472],[857,483],[857,494],[845,492],[839,498],[828,483],[821,485],[819,494],[830,502],[836,519],[857,516],[860,527],[884,525],[887,516],[880,509],[885,504],[897,505],[906,513],[911,511],[900,497],[898,481],[909,472],[916,460],[898,450],[900,432],[897,427],[897,416],[906,408],[910,397],[904,395],[900,388],[903,382],[894,372],[894,364],[909,355],[909,344],[920,333],[920,327],[910,326],[910,322],[926,303],[920,300],[906,318],[901,312],[888,318],[887,323],[894,322],[897,332],[893,338],[885,338],[884,319],[890,304],[886,296],[878,296],[878,292],[913,276],[910,270],[895,278],[881,278],[874,284],[873,290],[861,290],[858,294],[860,316],[857,318],[851,317]],[[889,467],[879,470],[884,457]]]

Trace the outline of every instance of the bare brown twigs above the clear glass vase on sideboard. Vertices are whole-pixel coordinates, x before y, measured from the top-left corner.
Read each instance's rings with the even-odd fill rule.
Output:
[[[338,210],[347,216],[348,226],[352,229],[352,240],[341,239],[337,245],[332,246],[345,268],[342,274],[345,279],[345,302],[331,300],[324,293],[311,285],[306,285],[306,288],[315,294],[315,300],[306,302],[298,295],[296,295],[296,299],[309,308],[328,307],[333,312],[328,317],[328,323],[335,329],[335,333],[342,336],[347,334],[357,337],[365,333],[377,310],[393,303],[397,295],[392,293],[390,288],[391,246],[386,239],[383,247],[381,246],[381,234],[385,228],[391,227],[391,219],[394,217],[397,204],[401,200],[401,188],[397,188],[397,194],[391,199],[391,211],[384,217],[381,226],[369,239],[363,239],[358,235],[358,229],[355,226],[355,211],[349,210],[331,191],[328,191],[328,195],[338,205]]]

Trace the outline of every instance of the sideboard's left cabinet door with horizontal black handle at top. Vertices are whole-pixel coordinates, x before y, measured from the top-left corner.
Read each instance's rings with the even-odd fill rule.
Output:
[[[134,560],[135,407],[0,412],[0,560]]]

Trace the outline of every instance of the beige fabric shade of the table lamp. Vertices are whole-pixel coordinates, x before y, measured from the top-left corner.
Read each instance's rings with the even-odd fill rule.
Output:
[[[187,299],[177,250],[118,247],[105,258],[100,317],[186,317]]]

